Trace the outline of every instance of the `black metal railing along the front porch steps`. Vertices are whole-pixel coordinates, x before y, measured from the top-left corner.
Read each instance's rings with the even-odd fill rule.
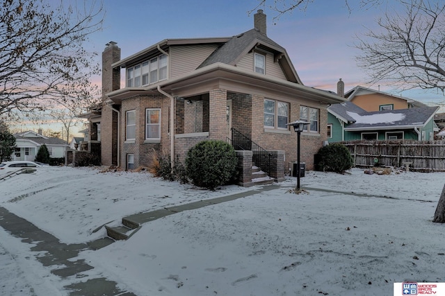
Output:
[[[232,139],[230,142],[232,146],[234,146],[235,150],[250,150],[252,151],[252,162],[255,166],[261,168],[262,171],[268,174],[270,177],[270,158],[272,154],[268,153],[268,151],[257,143],[252,141],[249,137],[246,137],[236,128],[231,128],[232,131]]]

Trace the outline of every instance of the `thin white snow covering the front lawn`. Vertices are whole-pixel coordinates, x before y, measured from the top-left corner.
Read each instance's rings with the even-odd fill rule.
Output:
[[[289,191],[291,177],[279,189],[154,220],[128,241],[81,252],[95,267],[84,279],[107,277],[136,295],[218,296],[392,295],[394,282],[444,282],[445,225],[431,222],[444,180],[306,172],[306,193]],[[248,190],[50,167],[0,182],[0,207],[82,243],[129,214]],[[29,247],[0,229],[0,295],[67,295],[67,279],[51,275]]]

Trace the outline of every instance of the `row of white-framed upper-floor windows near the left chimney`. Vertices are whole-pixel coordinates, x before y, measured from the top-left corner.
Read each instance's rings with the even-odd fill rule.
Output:
[[[167,79],[167,55],[158,55],[127,69],[127,87],[140,87]]]

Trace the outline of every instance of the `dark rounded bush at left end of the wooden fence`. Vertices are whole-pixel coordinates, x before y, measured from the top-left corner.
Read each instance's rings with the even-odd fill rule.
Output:
[[[353,157],[351,157],[348,148],[341,143],[332,143],[318,150],[318,171],[332,171],[335,173],[344,173],[353,166]]]

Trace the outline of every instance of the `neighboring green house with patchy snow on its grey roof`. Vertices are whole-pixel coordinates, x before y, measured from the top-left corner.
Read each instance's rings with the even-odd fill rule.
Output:
[[[366,112],[354,103],[327,108],[327,141],[434,139],[434,116],[439,107]]]

